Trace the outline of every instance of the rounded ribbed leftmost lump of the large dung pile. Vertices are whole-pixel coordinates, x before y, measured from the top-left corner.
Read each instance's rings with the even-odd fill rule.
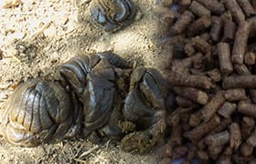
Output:
[[[16,88],[1,113],[1,133],[13,145],[34,147],[80,131],[76,98],[59,82],[31,80]]]

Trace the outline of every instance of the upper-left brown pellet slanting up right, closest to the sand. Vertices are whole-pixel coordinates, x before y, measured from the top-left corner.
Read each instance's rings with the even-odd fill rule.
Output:
[[[171,27],[171,34],[176,36],[184,32],[194,18],[195,16],[190,11],[185,11],[182,15],[180,15],[175,25]]]

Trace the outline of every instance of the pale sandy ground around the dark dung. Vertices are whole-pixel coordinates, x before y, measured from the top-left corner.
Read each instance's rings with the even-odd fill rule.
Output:
[[[110,34],[91,23],[90,0],[23,0],[3,8],[0,0],[0,109],[14,88],[27,78],[55,77],[60,63],[72,56],[112,50],[136,66],[163,70],[169,65],[162,44],[169,13],[154,0],[133,0],[138,12],[132,25]],[[13,0],[10,2],[19,2]],[[162,50],[162,49],[165,49]],[[0,138],[4,163],[156,163],[154,153],[125,153],[118,143],[100,146],[74,138],[37,148],[9,146]]]

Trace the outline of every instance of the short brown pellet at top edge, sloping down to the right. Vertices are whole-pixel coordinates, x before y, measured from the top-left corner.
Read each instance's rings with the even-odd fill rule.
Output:
[[[197,1],[193,1],[188,9],[198,17],[210,15],[210,11],[204,5],[197,3]]]

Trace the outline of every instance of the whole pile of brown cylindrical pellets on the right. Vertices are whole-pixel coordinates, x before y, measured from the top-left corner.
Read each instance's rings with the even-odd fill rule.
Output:
[[[256,162],[256,1],[179,0],[162,163]]]

